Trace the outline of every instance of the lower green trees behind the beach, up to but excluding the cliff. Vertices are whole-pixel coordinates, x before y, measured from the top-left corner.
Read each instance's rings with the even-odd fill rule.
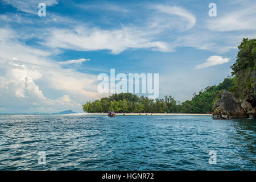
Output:
[[[172,96],[150,100],[144,96],[138,97],[136,94],[120,93],[103,97],[101,100],[86,102],[82,108],[88,113],[108,111],[117,113],[210,113],[213,111],[213,101],[221,90],[232,86],[232,78],[225,78],[224,82],[218,86],[208,86],[199,94],[194,94],[191,101],[182,103]]]

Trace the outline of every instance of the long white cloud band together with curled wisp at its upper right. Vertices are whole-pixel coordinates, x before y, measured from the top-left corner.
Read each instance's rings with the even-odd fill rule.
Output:
[[[153,11],[156,10],[156,11]],[[51,28],[46,30],[43,44],[51,48],[73,49],[76,51],[95,51],[109,49],[118,54],[126,49],[147,48],[153,51],[174,51],[162,34],[177,28],[184,31],[195,26],[196,18],[189,11],[177,6],[150,6],[149,22],[139,26],[129,24],[109,30],[91,27],[83,23],[72,28]],[[151,17],[152,16],[152,17]]]

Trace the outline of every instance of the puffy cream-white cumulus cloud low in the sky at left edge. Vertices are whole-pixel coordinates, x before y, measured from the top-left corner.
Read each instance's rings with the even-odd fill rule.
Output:
[[[11,100],[19,102],[22,101],[28,105],[35,107],[39,106],[52,106],[52,105],[77,105],[67,95],[51,100],[44,96],[42,90],[36,85],[35,81],[42,78],[42,69],[33,65],[22,65],[18,67],[19,63],[7,63],[6,74],[0,77],[1,85],[0,90],[3,96],[9,97]],[[3,69],[3,65],[1,65]]]

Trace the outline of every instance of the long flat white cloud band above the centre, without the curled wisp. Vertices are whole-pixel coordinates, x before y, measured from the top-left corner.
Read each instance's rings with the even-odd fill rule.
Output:
[[[77,27],[74,30],[51,29],[45,45],[52,48],[94,51],[109,49],[120,53],[128,48],[151,48],[155,51],[170,51],[167,43],[151,40],[148,32],[135,27],[116,30]]]

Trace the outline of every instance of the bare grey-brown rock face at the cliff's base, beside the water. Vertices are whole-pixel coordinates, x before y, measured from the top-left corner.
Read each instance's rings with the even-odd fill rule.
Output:
[[[221,97],[214,104],[215,114],[228,114],[230,118],[256,118],[256,98],[247,96],[244,100],[237,100],[227,90],[221,92]]]

